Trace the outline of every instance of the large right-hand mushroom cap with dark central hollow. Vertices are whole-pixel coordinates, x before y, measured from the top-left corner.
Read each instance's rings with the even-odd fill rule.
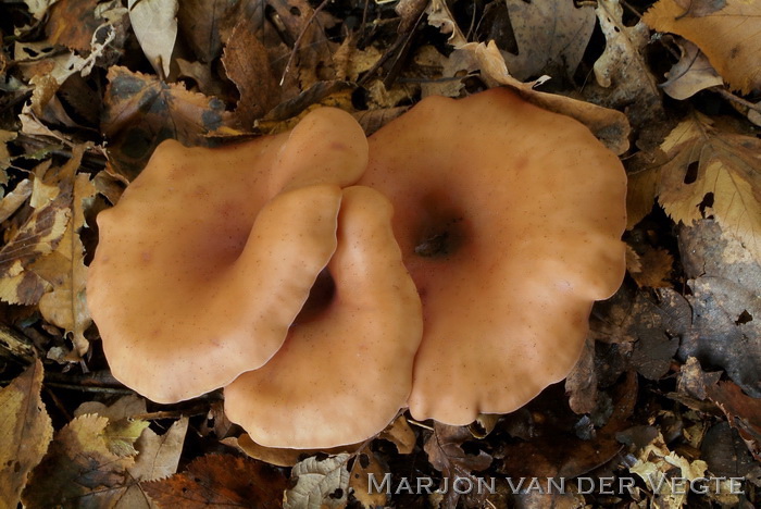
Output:
[[[513,411],[566,376],[624,274],[626,177],[576,121],[504,89],[432,97],[370,138],[423,301],[416,419]]]

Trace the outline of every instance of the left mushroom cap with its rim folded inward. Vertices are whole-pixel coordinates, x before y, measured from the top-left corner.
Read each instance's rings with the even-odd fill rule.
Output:
[[[87,298],[122,383],[175,402],[226,385],[282,346],[335,251],[340,186],[367,159],[348,113],[322,109],[305,121],[324,140],[295,131],[217,149],[165,141],[99,214]],[[336,144],[345,134],[350,142]],[[290,154],[304,135],[316,165]]]

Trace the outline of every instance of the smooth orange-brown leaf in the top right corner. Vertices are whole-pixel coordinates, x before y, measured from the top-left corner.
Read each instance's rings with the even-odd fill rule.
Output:
[[[696,13],[688,2],[660,0],[643,21],[698,45],[733,89],[761,89],[761,2],[726,0],[722,9]]]

